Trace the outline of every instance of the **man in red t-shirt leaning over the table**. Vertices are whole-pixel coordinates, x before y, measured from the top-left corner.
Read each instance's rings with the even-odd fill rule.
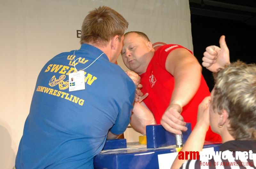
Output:
[[[143,102],[135,102],[132,127],[145,134],[146,125],[161,123],[166,130],[181,134],[187,122],[193,129],[198,105],[210,92],[192,52],[174,44],[155,51],[147,35],[127,32],[121,55],[125,66],[140,75],[141,91],[149,94]],[[205,140],[221,138],[209,129]]]

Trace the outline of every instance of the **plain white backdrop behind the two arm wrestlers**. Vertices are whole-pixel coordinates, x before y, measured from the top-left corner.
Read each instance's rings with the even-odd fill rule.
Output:
[[[56,54],[80,48],[76,30],[101,5],[121,13],[127,31],[193,50],[188,0],[0,0],[0,168],[14,165],[41,68]],[[121,57],[118,64],[126,70]]]

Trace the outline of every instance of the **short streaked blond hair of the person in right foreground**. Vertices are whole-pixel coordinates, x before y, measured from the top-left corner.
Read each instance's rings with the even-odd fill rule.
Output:
[[[214,74],[213,109],[228,112],[236,140],[256,139],[256,65],[237,61]]]

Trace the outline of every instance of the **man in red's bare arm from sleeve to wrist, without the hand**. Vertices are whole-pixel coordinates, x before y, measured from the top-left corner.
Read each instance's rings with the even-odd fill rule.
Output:
[[[168,55],[165,68],[175,79],[170,104],[178,103],[184,107],[199,88],[202,67],[188,50],[179,48]]]

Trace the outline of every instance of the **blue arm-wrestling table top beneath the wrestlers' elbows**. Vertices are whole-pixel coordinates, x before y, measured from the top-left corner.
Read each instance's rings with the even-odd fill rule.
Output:
[[[213,151],[219,151],[219,146],[220,144],[205,142],[204,148],[212,147]],[[176,145],[148,149],[147,145],[140,145],[139,142],[127,143],[127,148],[101,151],[100,154],[94,157],[94,168],[159,168],[158,155],[177,151],[179,149],[176,149]],[[166,163],[172,163],[173,160],[170,159]]]

